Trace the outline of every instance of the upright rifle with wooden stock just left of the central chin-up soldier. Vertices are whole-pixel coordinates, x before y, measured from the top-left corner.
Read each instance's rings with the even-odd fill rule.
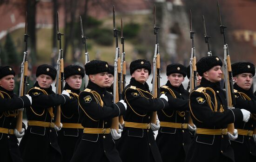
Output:
[[[115,63],[114,63],[114,103],[117,103],[121,98],[121,59],[119,56],[120,49],[118,46],[118,30],[115,28],[115,6],[113,5],[113,29],[115,37]],[[119,119],[118,117],[112,118],[111,128],[118,131]]]

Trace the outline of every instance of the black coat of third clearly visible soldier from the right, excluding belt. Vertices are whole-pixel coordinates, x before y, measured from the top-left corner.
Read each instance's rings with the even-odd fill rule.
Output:
[[[173,87],[170,81],[167,81],[166,86],[173,91],[175,97],[167,88],[161,87],[161,93],[168,97],[169,107],[157,112],[160,125],[161,122],[188,123],[185,113],[189,111],[189,91],[185,90],[183,85]],[[162,161],[184,162],[192,140],[191,136],[188,129],[160,127],[155,141]]]

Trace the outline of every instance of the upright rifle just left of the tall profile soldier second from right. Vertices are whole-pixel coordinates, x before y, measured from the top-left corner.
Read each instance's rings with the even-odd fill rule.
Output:
[[[192,30],[192,12],[190,10],[190,39],[192,41],[192,48],[191,48],[191,56],[190,56],[190,61],[189,61],[189,66],[190,66],[190,81],[189,81],[189,87],[190,87],[190,92],[196,87],[196,57],[195,57],[195,44],[194,44],[194,34],[195,31]],[[192,118],[190,114],[188,115],[189,119],[189,125],[193,126],[194,123],[192,121]]]

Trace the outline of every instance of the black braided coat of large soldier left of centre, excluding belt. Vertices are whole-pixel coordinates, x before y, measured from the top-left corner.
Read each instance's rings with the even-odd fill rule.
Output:
[[[87,92],[88,89],[91,91]],[[78,100],[84,128],[110,128],[112,118],[125,112],[122,103],[113,104],[113,95],[91,81],[88,82],[87,89],[79,94]],[[121,159],[110,133],[83,133],[71,162],[121,162]]]

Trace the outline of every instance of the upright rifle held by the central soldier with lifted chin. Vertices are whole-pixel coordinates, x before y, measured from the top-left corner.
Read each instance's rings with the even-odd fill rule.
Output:
[[[155,13],[155,5],[153,10],[153,21],[154,21],[154,34],[155,34],[155,53],[153,57],[153,80],[152,80],[152,95],[154,98],[158,98],[160,96],[160,53],[159,53],[159,44],[158,44],[158,30],[160,27],[156,26],[156,13]],[[153,112],[151,123],[156,124],[157,113]]]

